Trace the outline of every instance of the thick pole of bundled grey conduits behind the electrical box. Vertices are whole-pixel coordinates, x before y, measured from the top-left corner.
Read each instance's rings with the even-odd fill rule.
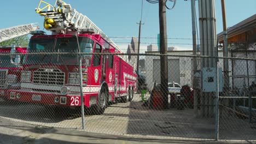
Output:
[[[199,0],[199,28],[200,28],[200,55],[217,57],[217,35],[216,35],[216,14],[215,14],[215,0]],[[214,99],[216,99],[216,89],[206,90],[204,87],[208,83],[203,79],[203,76],[208,75],[208,68],[217,68],[216,58],[201,58],[201,116],[213,117],[214,113]],[[203,70],[205,69],[205,70]],[[214,80],[217,82],[217,80]],[[215,93],[215,94],[214,94]],[[217,104],[215,105],[217,107]]]

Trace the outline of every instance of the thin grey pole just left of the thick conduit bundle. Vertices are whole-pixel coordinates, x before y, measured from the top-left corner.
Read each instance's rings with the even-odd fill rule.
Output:
[[[195,0],[191,0],[191,15],[192,15],[192,35],[193,35],[193,55],[196,56],[196,13],[195,13]],[[197,87],[199,86],[196,81],[195,73],[197,70],[197,59],[193,57],[193,89],[194,89],[194,112],[197,116]]]

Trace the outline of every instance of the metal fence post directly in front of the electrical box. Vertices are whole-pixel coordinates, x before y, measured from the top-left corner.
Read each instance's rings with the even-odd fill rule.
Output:
[[[217,77],[217,82],[216,82],[216,112],[215,112],[215,140],[219,140],[219,70],[218,70],[218,62],[217,62],[217,67],[216,67],[216,77]]]

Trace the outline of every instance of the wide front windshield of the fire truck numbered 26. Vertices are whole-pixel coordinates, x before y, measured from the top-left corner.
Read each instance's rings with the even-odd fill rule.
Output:
[[[79,37],[80,52],[91,52],[91,47],[86,47],[88,44],[94,45],[92,39],[86,37]],[[43,55],[28,55],[25,63],[40,62],[41,64],[65,64],[65,65],[77,65],[79,64],[78,58],[78,43],[75,37],[58,37],[56,38],[56,44],[54,45],[54,38],[40,38],[30,41],[28,46],[29,52],[47,52],[54,51],[60,53],[59,55],[43,54]],[[31,51],[33,50],[33,51]],[[72,54],[63,54],[62,52],[70,52]],[[91,55],[83,55],[84,58],[90,59]]]

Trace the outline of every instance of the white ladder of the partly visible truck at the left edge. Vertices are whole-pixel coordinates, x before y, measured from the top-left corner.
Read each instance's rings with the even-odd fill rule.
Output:
[[[27,25],[19,25],[15,27],[0,29],[0,43],[2,41],[29,34],[30,31],[36,31],[37,28],[39,28],[37,23],[30,23]]]

